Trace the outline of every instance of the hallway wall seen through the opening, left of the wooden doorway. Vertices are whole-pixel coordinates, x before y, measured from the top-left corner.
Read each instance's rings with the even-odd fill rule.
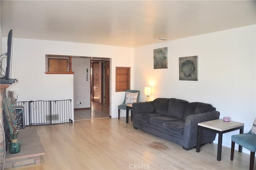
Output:
[[[86,80],[86,68],[88,80]],[[74,74],[74,108],[90,108],[90,59],[72,58],[72,70]],[[77,104],[80,101],[81,104]]]

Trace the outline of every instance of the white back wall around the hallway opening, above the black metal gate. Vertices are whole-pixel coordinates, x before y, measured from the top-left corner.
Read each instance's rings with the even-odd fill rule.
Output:
[[[15,33],[15,30],[13,32]],[[2,44],[6,43],[5,37]],[[2,47],[4,48],[3,45]],[[116,66],[131,67],[131,81],[134,80],[134,48],[13,38],[12,78],[17,78],[19,82],[14,84],[12,89],[18,92],[18,101],[72,99],[74,102],[73,75],[45,74],[46,54],[112,58],[110,115],[112,118],[118,116],[117,107],[124,100],[124,92],[115,92]],[[131,88],[133,86],[132,81]],[[125,116],[125,112],[122,116]]]

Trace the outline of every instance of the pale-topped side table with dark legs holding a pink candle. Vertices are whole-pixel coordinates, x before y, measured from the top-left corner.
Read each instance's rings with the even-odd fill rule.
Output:
[[[200,152],[200,137],[201,130],[209,130],[218,133],[218,152],[217,160],[221,160],[221,150],[222,150],[222,134],[226,132],[231,132],[233,130],[240,129],[240,134],[244,133],[244,123],[240,122],[224,122],[223,119],[210,120],[207,122],[198,123],[197,129],[197,142],[196,142],[196,152]],[[239,146],[239,152],[242,152],[242,146]]]

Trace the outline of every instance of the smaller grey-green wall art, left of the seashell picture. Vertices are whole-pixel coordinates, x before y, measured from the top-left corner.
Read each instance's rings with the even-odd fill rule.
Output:
[[[154,49],[154,69],[167,68],[167,56],[167,47]]]

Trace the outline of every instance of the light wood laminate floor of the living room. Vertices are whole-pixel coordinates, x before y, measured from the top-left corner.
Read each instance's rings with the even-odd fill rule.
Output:
[[[135,130],[126,118],[81,120],[73,123],[34,126],[44,147],[41,164],[14,169],[168,169],[168,170],[247,170],[250,156],[235,151],[230,161],[230,148],[222,147],[222,160],[217,161],[217,144],[196,149]],[[255,169],[256,166],[254,166]]]

